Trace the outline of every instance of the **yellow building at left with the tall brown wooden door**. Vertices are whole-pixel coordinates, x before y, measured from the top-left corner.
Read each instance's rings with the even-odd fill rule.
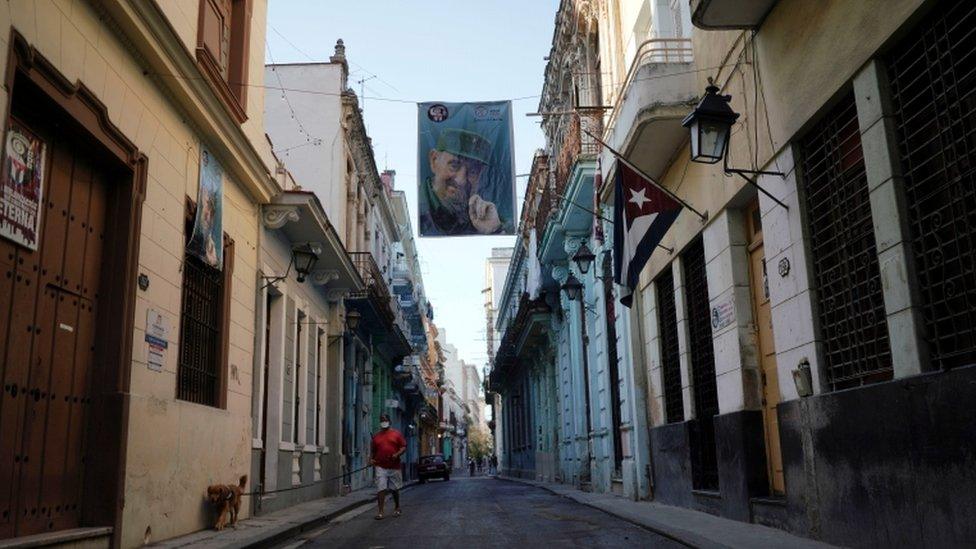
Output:
[[[45,151],[37,249],[0,239],[0,540],[171,538],[211,526],[206,487],[248,473],[260,205],[280,192],[266,10],[0,9],[4,126]],[[204,151],[223,171],[221,269],[186,253]]]

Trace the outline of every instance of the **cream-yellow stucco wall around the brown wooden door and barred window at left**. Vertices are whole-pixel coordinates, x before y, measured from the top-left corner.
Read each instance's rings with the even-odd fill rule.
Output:
[[[263,0],[254,4],[258,30],[252,32],[252,43],[263,44],[266,6]],[[194,45],[197,1],[160,5],[180,37]],[[150,285],[146,291],[133,289],[138,295],[121,532],[122,545],[131,547],[142,543],[147,527],[152,528],[153,540],[207,527],[213,519],[204,505],[206,486],[236,482],[249,472],[257,209],[242,187],[225,176],[224,231],[235,241],[227,407],[178,401],[174,395],[184,200],[196,197],[206,137],[183,121],[157,80],[143,75],[130,48],[103,24],[103,17],[87,2],[12,1],[0,9],[0,29],[13,25],[69,80],[90,88],[105,104],[111,121],[149,159],[139,272],[148,275]],[[0,32],[4,50],[7,40],[6,30]],[[252,62],[260,63],[263,47],[257,52]],[[6,60],[6,55],[0,56],[0,64]],[[260,71],[251,74],[263,76]],[[0,103],[6,100],[6,92],[0,92]],[[261,111],[255,108],[261,101],[260,92],[249,93],[249,114],[256,122],[246,129],[252,138],[263,134]],[[146,366],[144,330],[150,307],[168,318],[172,330],[161,372]]]

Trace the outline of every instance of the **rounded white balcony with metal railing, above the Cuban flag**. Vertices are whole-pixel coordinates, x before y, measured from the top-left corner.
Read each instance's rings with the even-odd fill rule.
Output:
[[[607,142],[652,177],[660,177],[688,131],[681,120],[698,100],[688,38],[652,38],[638,48],[617,90]],[[605,166],[612,158],[604,152]]]

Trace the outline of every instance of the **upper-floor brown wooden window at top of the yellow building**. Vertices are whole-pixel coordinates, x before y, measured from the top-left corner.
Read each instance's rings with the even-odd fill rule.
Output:
[[[200,0],[197,63],[238,122],[247,120],[251,0]]]

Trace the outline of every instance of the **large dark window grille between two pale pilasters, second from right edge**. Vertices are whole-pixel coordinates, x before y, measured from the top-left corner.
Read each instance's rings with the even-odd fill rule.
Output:
[[[853,93],[802,140],[800,153],[827,381],[836,390],[891,379]]]

